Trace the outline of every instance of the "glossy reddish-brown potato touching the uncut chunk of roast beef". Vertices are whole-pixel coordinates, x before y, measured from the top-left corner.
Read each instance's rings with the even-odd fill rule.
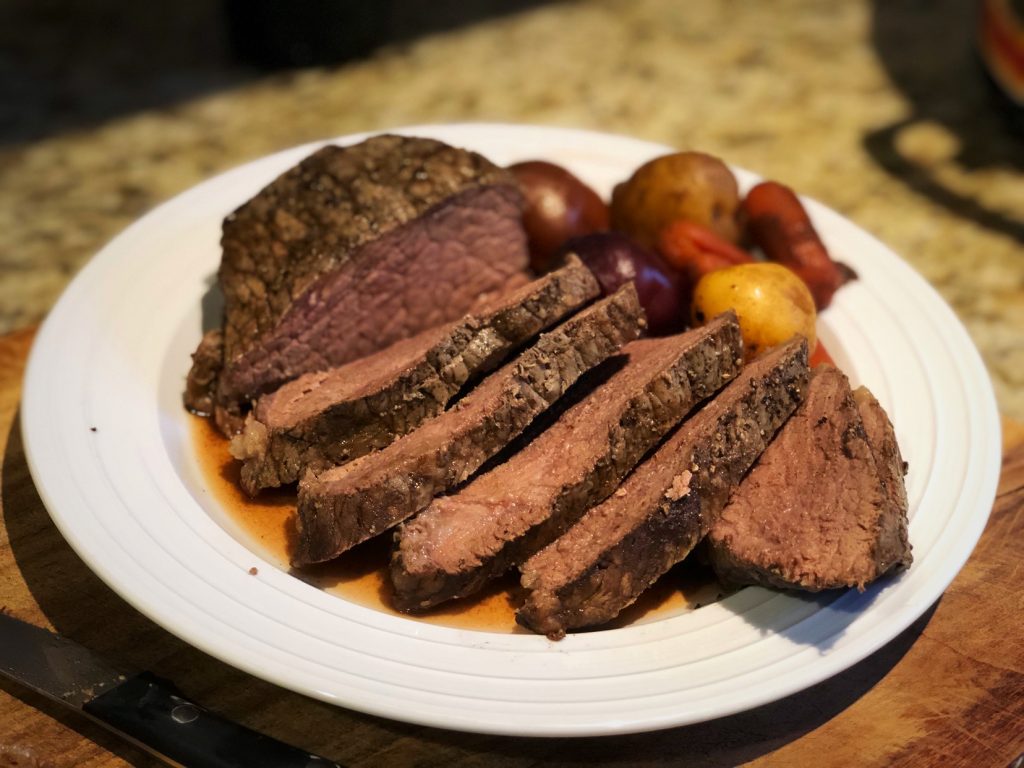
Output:
[[[605,202],[561,166],[531,160],[508,169],[526,198],[523,226],[534,271],[551,269],[561,245],[569,238],[608,228]]]

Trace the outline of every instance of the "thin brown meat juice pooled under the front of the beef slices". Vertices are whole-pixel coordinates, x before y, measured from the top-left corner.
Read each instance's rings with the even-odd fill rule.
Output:
[[[297,536],[294,488],[264,492],[257,499],[250,499],[238,483],[240,465],[228,453],[227,440],[207,419],[194,416],[189,421],[199,465],[213,498],[258,542],[268,559],[284,567],[290,560]],[[346,552],[335,562],[292,573],[331,594],[386,613],[457,629],[526,633],[515,623],[520,598],[518,581],[513,574],[492,583],[478,595],[454,600],[428,613],[416,616],[398,613],[391,607],[387,578],[390,545],[390,537],[377,537]],[[602,629],[707,605],[722,594],[721,586],[708,569],[687,561],[666,573],[615,622]]]

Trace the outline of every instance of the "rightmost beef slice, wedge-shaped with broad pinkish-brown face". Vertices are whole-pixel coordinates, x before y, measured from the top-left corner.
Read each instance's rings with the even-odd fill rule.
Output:
[[[815,369],[807,399],[708,537],[723,582],[812,592],[863,589],[909,562],[905,494],[883,484],[876,450],[889,464],[884,472],[890,483],[902,485],[902,460],[888,418],[873,397],[862,394],[861,400],[873,439],[846,376],[831,367]]]

